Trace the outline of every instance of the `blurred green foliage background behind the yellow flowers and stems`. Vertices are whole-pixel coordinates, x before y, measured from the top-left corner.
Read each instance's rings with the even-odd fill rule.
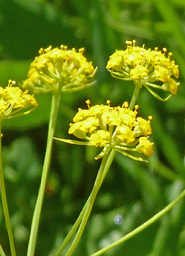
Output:
[[[164,208],[184,188],[185,2],[181,0],[0,0],[0,85],[21,83],[40,47],[85,47],[98,66],[96,84],[63,94],[55,135],[70,138],[68,124],[78,107],[111,100],[130,101],[134,85],[115,80],[105,69],[125,41],[166,47],[179,65],[180,87],[168,102],[144,88],[139,114],[153,115],[154,156],[149,164],[117,154],[99,191],[83,238],[73,255],[90,255],[119,239]],[[3,123],[3,165],[17,255],[26,255],[31,217],[39,189],[50,113],[50,95],[36,95],[39,107],[26,117]],[[98,171],[98,149],[54,141],[36,256],[54,255],[76,221]],[[120,217],[120,223],[115,221]],[[185,206],[179,202],[165,217],[105,255],[184,256]],[[0,205],[0,243],[9,253]]]

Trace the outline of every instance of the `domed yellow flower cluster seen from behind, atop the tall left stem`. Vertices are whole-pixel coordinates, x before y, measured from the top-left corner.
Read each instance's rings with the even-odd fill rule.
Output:
[[[39,92],[56,91],[61,84],[62,91],[74,91],[91,85],[95,69],[83,56],[84,49],[67,50],[67,46],[39,50],[39,56],[31,63],[28,79],[23,88]]]

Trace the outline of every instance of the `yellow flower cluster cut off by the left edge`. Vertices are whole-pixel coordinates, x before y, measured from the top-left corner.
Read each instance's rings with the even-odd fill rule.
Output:
[[[15,81],[9,80],[7,87],[0,87],[1,120],[29,113],[31,110],[24,112],[23,109],[38,106],[34,96],[28,94],[28,90],[22,91],[20,87],[15,87],[15,84]]]

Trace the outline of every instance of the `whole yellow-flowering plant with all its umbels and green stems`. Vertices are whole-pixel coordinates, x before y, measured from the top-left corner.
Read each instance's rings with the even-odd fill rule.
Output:
[[[171,61],[171,53],[168,54],[168,58],[165,57],[167,51],[165,48],[163,52],[158,50],[158,48],[146,50],[144,46],[135,46],[135,43],[135,40],[132,42],[127,41],[127,49],[117,50],[110,56],[106,66],[113,77],[120,80],[133,80],[135,91],[131,97],[131,101],[121,102],[120,106],[112,106],[110,100],[107,100],[106,105],[91,106],[91,101],[87,100],[87,109],[79,108],[73,117],[73,122],[69,124],[69,135],[76,136],[78,140],[56,138],[54,137],[54,131],[61,94],[64,91],[77,91],[94,83],[96,69],[94,69],[91,62],[88,62],[83,57],[83,48],[78,52],[75,49],[67,50],[66,46],[54,49],[51,46],[46,49],[42,48],[39,50],[39,56],[31,63],[28,79],[22,83],[22,88],[25,91],[22,91],[19,87],[14,87],[15,83],[13,81],[9,81],[8,87],[6,88],[0,87],[0,124],[2,124],[3,119],[18,117],[30,113],[32,109],[35,109],[38,104],[35,101],[34,95],[28,93],[29,91],[35,94],[50,92],[52,95],[46,154],[43,162],[39,195],[35,203],[35,211],[32,218],[28,256],[35,254],[39,221],[46,190],[46,180],[50,169],[53,139],[64,143],[100,147],[102,150],[95,157],[95,160],[101,159],[102,162],[98,169],[91,195],[87,198],[87,202],[83,206],[72,229],[68,232],[68,235],[62,241],[58,250],[56,250],[55,256],[61,255],[66,249],[67,252],[65,255],[69,256],[76,249],[90,217],[94,200],[109,171],[115,154],[118,152],[135,161],[147,162],[147,159],[154,153],[154,143],[150,142],[149,139],[149,136],[152,134],[150,124],[152,117],[149,116],[147,120],[139,117],[139,106],[135,103],[142,87],[146,87],[155,98],[162,101],[176,94],[179,86],[179,82],[176,81],[179,77],[179,68],[175,64],[175,61]],[[151,87],[168,91],[170,95],[165,99],[161,98]],[[80,139],[83,139],[83,141]],[[15,256],[16,250],[9,221],[9,210],[2,169],[2,152],[0,152],[0,188],[10,249],[12,255]],[[100,255],[135,236],[138,232],[141,232],[144,228],[154,223],[154,221],[157,221],[168,210],[171,210],[184,196],[185,191],[166,206],[165,209],[139,226],[139,228],[135,228],[135,230],[118,239],[115,243],[92,255]],[[68,247],[68,243],[71,240],[72,243]],[[6,255],[1,245],[0,254],[2,256]]]

